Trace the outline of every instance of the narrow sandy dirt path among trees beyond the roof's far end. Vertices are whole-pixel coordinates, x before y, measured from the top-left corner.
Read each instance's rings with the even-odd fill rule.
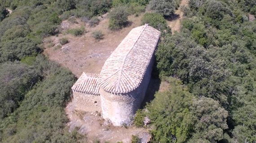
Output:
[[[168,21],[168,25],[172,28],[172,33],[174,33],[174,31],[180,32],[181,20],[183,18],[183,13],[181,12],[181,7],[186,6],[187,4],[188,4],[187,0],[181,0],[180,7],[174,14],[175,17],[172,20]]]

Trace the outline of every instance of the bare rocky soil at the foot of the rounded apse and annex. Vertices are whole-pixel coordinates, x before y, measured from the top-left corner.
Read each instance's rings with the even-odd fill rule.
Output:
[[[126,128],[113,126],[106,122],[100,113],[76,111],[73,102],[69,102],[66,106],[66,113],[71,121],[68,123],[70,130],[79,127],[79,132],[86,134],[88,143],[94,143],[95,141],[100,141],[101,143],[116,143],[118,141],[130,143],[132,135],[137,135],[141,138],[141,143],[147,143],[151,137],[148,129],[135,126]]]

